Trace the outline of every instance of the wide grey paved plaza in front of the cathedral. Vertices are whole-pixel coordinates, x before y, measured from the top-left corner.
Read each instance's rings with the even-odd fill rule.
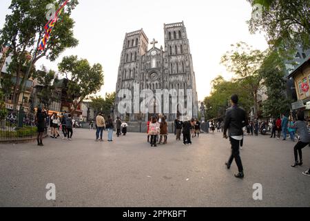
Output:
[[[107,133],[105,133],[107,137]],[[106,140],[106,138],[105,138]],[[225,168],[228,140],[221,133],[183,146],[150,148],[146,135],[114,136],[94,142],[94,131],[74,130],[74,139],[0,145],[0,206],[310,206],[310,148],[304,166],[291,168],[293,142],[269,136],[245,137],[241,151],[245,179]],[[45,189],[56,185],[56,200]],[[262,200],[253,185],[262,184]]]

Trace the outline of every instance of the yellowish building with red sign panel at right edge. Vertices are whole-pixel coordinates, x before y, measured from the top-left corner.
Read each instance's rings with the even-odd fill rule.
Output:
[[[310,55],[307,56],[288,76],[293,79],[298,101],[292,104],[292,110],[306,110],[310,116]]]

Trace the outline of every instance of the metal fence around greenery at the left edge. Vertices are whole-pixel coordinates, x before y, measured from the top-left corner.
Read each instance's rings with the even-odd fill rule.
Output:
[[[0,142],[34,137],[37,137],[34,113],[10,111],[5,119],[0,119]]]

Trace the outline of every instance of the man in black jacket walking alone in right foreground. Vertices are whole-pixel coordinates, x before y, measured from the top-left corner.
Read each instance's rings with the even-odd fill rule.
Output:
[[[238,95],[231,96],[231,108],[226,112],[224,125],[224,138],[227,139],[227,130],[229,131],[229,140],[231,142],[231,157],[226,163],[227,169],[230,169],[231,163],[235,159],[239,173],[237,178],[243,178],[243,166],[240,158],[240,141],[243,140],[242,128],[247,126],[247,114],[245,110],[238,107]]]

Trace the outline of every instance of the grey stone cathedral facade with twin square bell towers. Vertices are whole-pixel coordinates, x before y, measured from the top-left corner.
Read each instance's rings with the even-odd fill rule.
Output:
[[[158,42],[155,39],[149,42],[143,29],[126,33],[118,68],[114,117],[130,122],[147,121],[150,116],[160,113],[168,121],[174,121],[177,116],[198,117],[196,79],[184,23],[164,24],[164,36],[165,48],[157,48]],[[149,44],[152,44],[150,49]],[[125,105],[126,111],[121,111],[124,99],[134,102],[137,89],[138,93],[143,90],[154,92],[154,99],[147,99],[147,113],[137,112],[137,104]],[[130,95],[124,95],[124,90],[130,91]],[[162,97],[156,96],[158,91],[163,91]],[[176,91],[177,94],[167,97],[167,91]],[[176,98],[182,91],[184,97]],[[161,101],[164,97],[168,106]],[[178,102],[173,102],[174,99]],[[143,102],[143,96],[138,100]]]

